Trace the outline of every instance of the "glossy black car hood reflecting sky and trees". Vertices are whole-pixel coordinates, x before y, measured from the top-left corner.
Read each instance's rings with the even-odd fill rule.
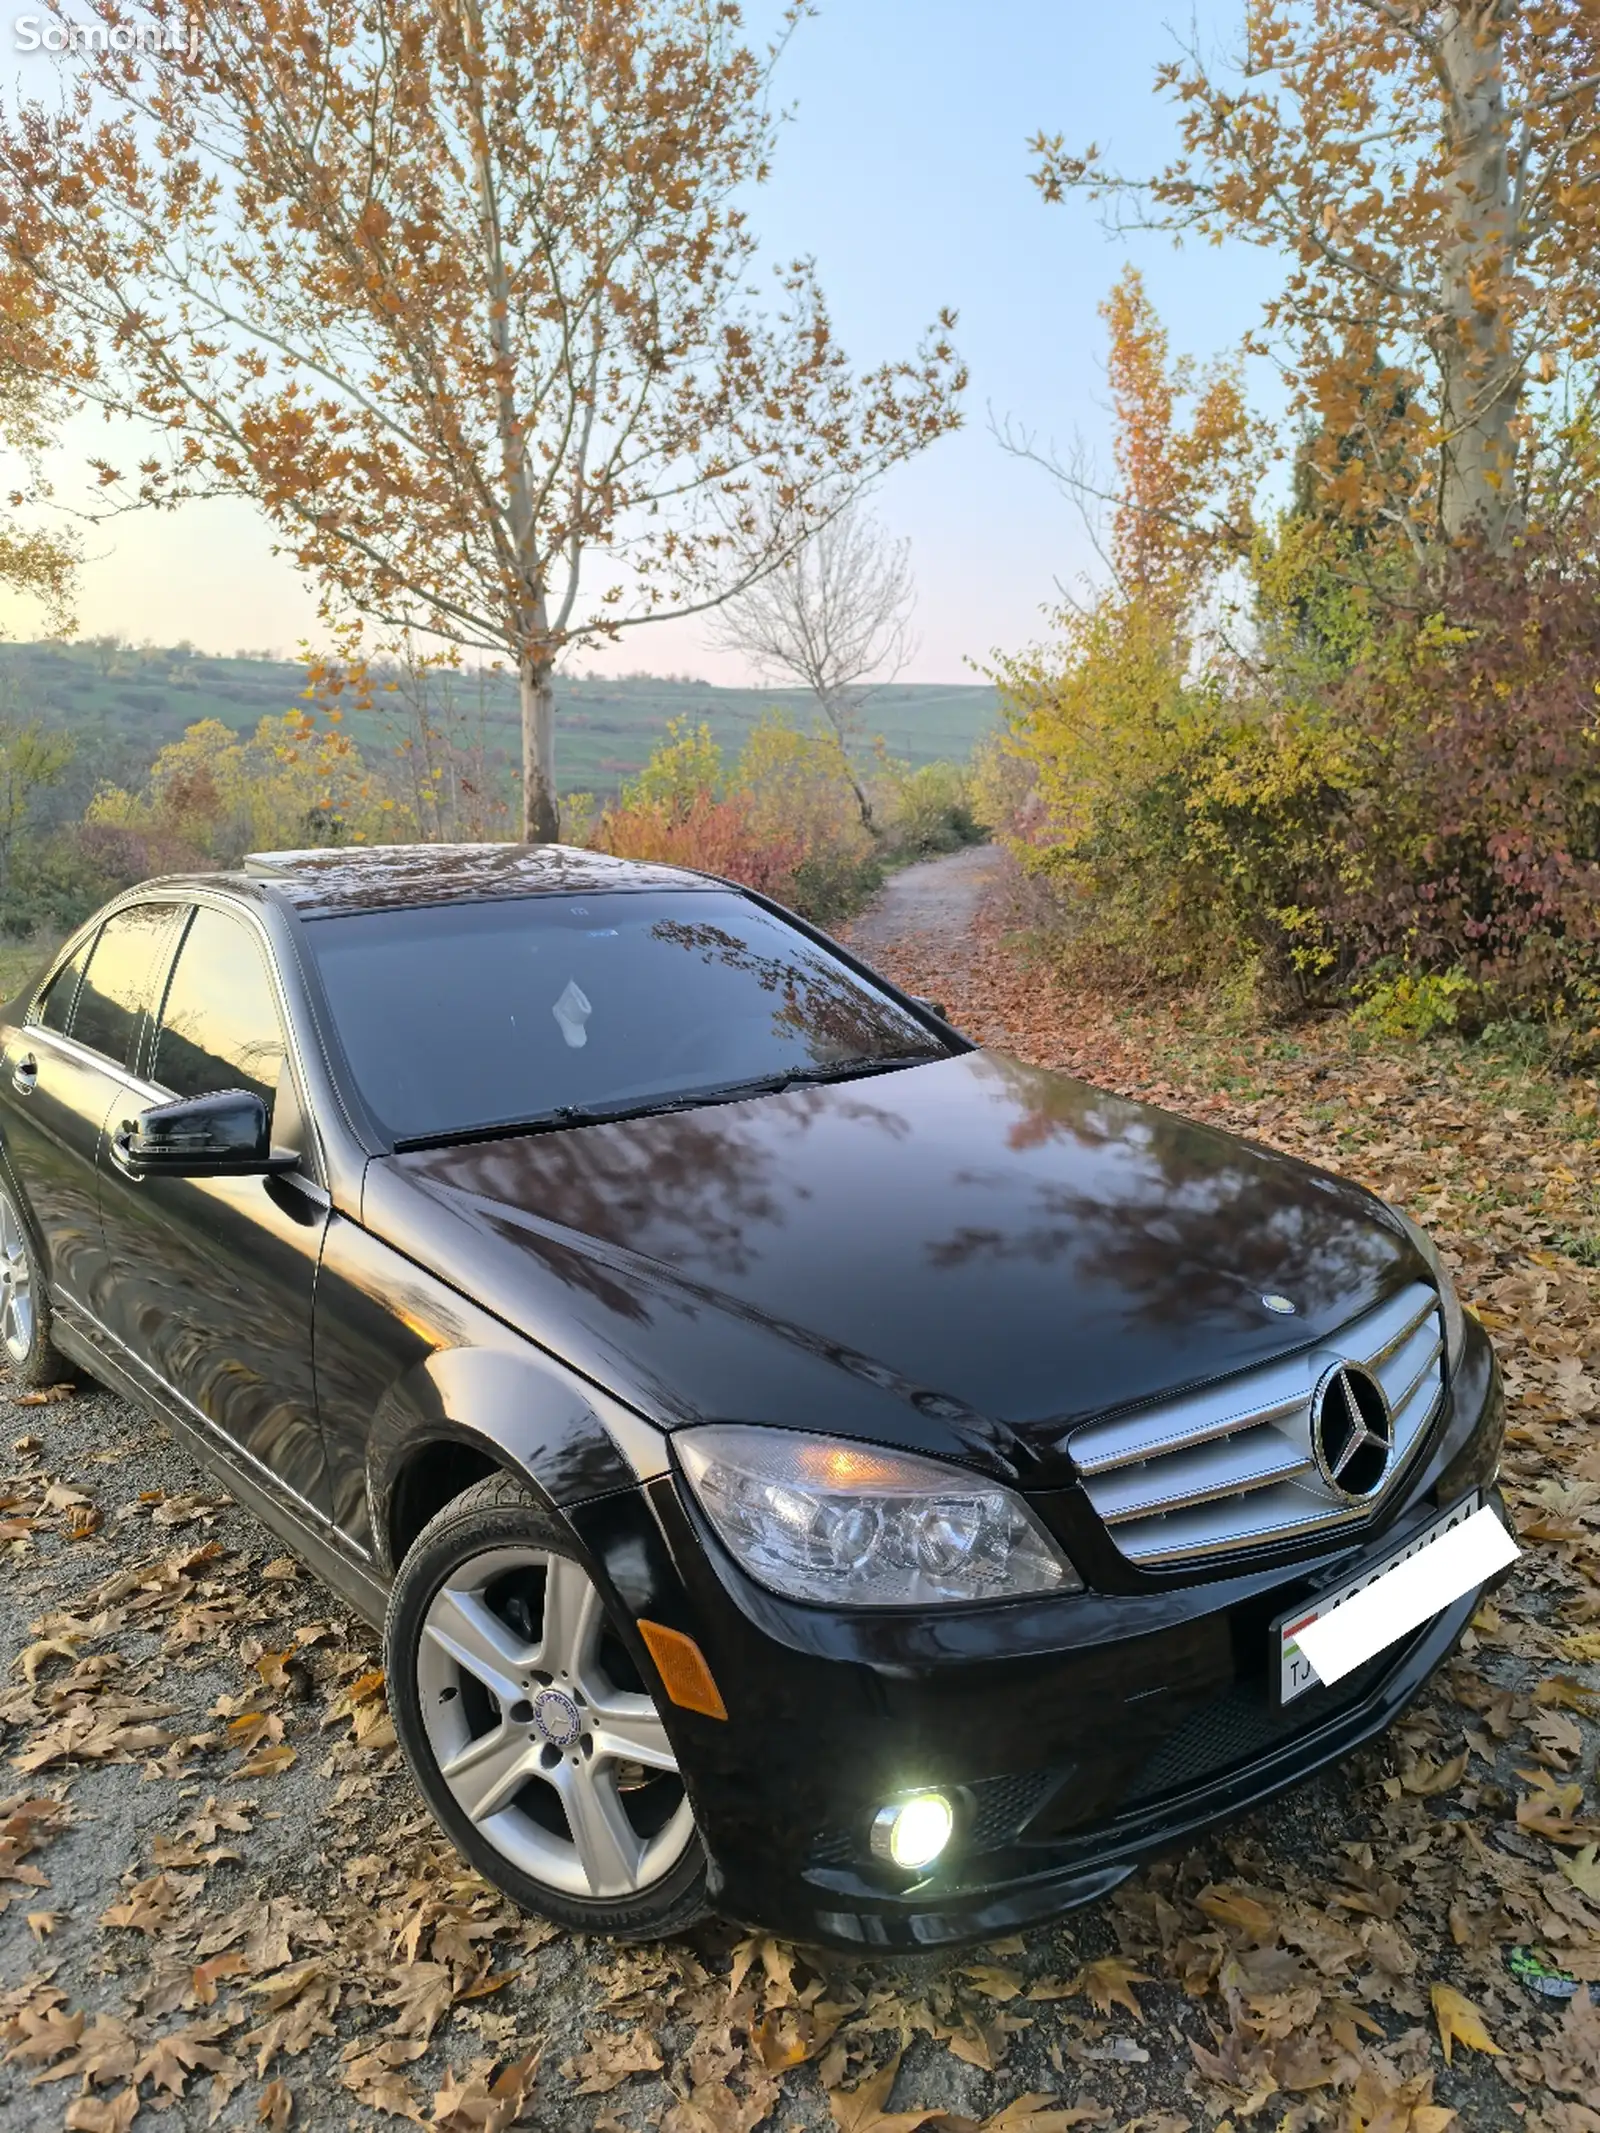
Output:
[[[1314,1344],[1421,1271],[1359,1186],[994,1052],[386,1156],[363,1220],[668,1427],[1035,1480],[1082,1421]]]

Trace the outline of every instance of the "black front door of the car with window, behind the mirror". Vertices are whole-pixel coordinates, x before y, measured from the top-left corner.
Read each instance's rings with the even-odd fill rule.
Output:
[[[122,1118],[175,1096],[254,1090],[273,1139],[303,1162],[279,1177],[132,1177]],[[141,1081],[100,1154],[111,1280],[100,1316],[160,1389],[326,1514],[311,1378],[311,1297],[329,1201],[303,1145],[294,1069],[267,943],[198,904],[177,949]]]

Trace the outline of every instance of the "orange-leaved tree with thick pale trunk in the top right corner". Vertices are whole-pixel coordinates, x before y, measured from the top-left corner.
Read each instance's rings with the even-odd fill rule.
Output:
[[[1594,467],[1600,11],[1587,0],[1248,0],[1244,51],[1158,73],[1154,177],[1041,134],[1047,201],[1242,239],[1286,275],[1265,335],[1329,439],[1338,501],[1412,552],[1502,548]],[[1263,343],[1265,346],[1265,343]],[[1374,369],[1393,390],[1374,392]],[[1545,390],[1551,388],[1551,390]],[[1374,412],[1382,433],[1350,452]],[[1393,418],[1393,420],[1391,420]],[[1393,484],[1397,467],[1417,478]]]

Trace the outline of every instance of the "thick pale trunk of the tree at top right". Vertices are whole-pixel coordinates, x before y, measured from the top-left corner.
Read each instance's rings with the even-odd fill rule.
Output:
[[[1500,550],[1521,529],[1517,407],[1523,371],[1506,294],[1513,271],[1506,21],[1515,0],[1457,0],[1440,13],[1438,68],[1446,87],[1446,190],[1455,207],[1444,247],[1438,324],[1440,518],[1451,542]]]

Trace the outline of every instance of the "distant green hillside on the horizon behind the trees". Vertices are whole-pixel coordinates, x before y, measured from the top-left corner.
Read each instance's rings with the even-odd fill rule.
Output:
[[[190,646],[122,646],[113,653],[105,644],[0,644],[0,685],[13,715],[38,715],[68,727],[79,740],[79,757],[92,755],[105,774],[126,783],[198,719],[220,719],[247,732],[258,719],[294,708],[305,674],[292,661],[211,659]],[[471,702],[474,715],[482,687],[491,755],[514,766],[521,747],[510,676],[491,674],[482,683],[459,678],[454,687],[457,700]],[[557,702],[563,791],[617,791],[651,753],[668,719],[704,719],[730,753],[772,706],[796,723],[809,721],[802,691],[719,689],[653,674],[563,676]],[[994,723],[994,708],[988,687],[894,683],[873,695],[868,727],[883,736],[892,755],[926,764],[966,755]],[[373,757],[390,753],[397,740],[375,717],[352,721],[352,734]]]

